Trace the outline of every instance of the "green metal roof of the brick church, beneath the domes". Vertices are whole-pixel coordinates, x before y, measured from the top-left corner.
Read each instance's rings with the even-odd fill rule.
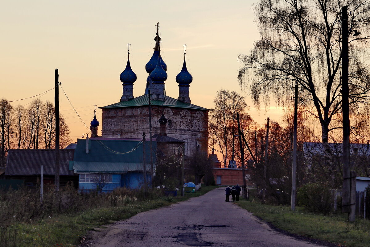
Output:
[[[178,108],[185,108],[185,109],[195,109],[195,110],[209,110],[200,106],[196,106],[190,103],[184,103],[169,96],[164,96],[165,100],[152,100],[152,106],[164,106],[164,107],[178,107]],[[122,101],[118,103],[111,104],[109,106],[98,107],[100,109],[105,108],[122,108],[122,107],[132,107],[132,106],[148,106],[149,104],[148,94],[144,94],[139,97],[135,97],[134,99],[128,101]]]

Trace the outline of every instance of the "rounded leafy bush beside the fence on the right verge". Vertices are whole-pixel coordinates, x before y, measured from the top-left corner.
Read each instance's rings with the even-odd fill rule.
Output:
[[[330,213],[333,201],[330,188],[324,184],[305,184],[297,190],[297,204],[315,213]]]

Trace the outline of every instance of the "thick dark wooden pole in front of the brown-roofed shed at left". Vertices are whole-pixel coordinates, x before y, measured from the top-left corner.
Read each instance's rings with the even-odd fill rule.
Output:
[[[54,184],[55,191],[59,191],[59,171],[60,171],[60,153],[59,153],[59,135],[60,135],[60,120],[59,120],[59,74],[58,69],[55,69],[55,169],[54,169]]]

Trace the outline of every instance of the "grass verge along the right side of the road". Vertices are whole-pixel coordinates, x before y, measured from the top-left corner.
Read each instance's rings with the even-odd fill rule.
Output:
[[[258,198],[253,196],[250,197],[250,201],[241,199],[235,204],[296,237],[324,240],[337,246],[370,246],[369,220],[357,218],[355,222],[350,223],[344,214],[323,216],[322,214],[309,213],[301,207],[296,207],[296,211],[292,211],[290,206],[262,204]]]

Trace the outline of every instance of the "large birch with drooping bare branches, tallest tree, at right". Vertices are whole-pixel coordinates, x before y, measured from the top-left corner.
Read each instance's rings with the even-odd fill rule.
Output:
[[[369,30],[367,0],[260,0],[255,15],[261,38],[250,55],[238,58],[243,64],[239,83],[249,86],[256,106],[260,98],[269,104],[270,96],[284,104],[290,99],[292,82],[298,81],[303,104],[320,121],[323,143],[328,142],[329,131],[340,128],[330,124],[342,113],[339,13],[344,5],[351,10],[350,34],[355,29]],[[369,37],[351,36],[349,40],[351,113],[369,107],[370,74],[361,62]]]

